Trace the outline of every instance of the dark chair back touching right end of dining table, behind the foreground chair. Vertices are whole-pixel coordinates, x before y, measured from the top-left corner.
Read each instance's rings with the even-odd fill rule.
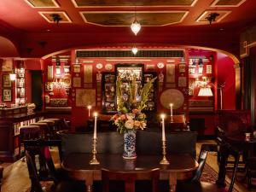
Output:
[[[216,144],[202,144],[201,145],[201,150],[200,150],[200,154],[198,156],[198,168],[195,171],[195,176],[192,178],[191,181],[199,181],[201,174],[203,172],[204,166],[206,164],[207,161],[207,154],[208,152],[218,152],[218,146]]]

